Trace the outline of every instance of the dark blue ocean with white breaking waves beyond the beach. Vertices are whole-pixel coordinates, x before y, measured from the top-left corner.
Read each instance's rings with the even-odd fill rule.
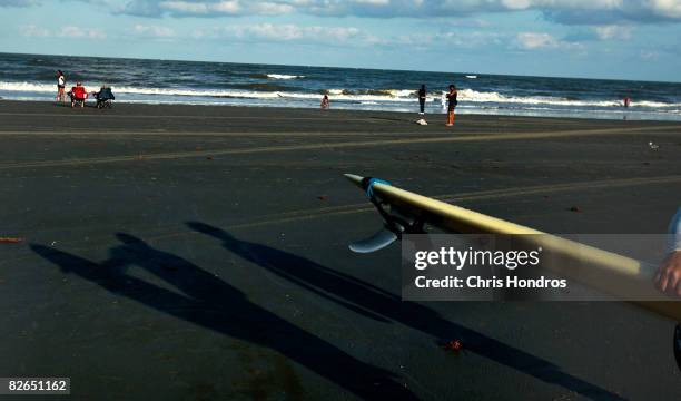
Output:
[[[121,102],[317,108],[328,94],[333,108],[416,113],[425,84],[426,113],[442,114],[454,84],[461,114],[681,120],[673,82],[12,53],[0,53],[0,97],[51,100],[57,69],[67,89],[108,84]]]

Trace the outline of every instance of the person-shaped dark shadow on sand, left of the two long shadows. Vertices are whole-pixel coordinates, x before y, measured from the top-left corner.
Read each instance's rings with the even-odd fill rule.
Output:
[[[62,272],[91,281],[111,294],[275,350],[359,398],[416,399],[393,373],[364,363],[259,307],[239,290],[187,260],[128,234],[117,237],[122,244],[111,248],[110,257],[102,263],[39,244],[31,244],[31,248]],[[144,268],[185,295],[127,274],[130,266]]]

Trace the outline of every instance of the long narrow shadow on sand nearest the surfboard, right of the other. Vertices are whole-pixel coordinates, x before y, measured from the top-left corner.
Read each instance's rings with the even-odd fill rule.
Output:
[[[382,321],[399,322],[432,335],[435,341],[441,343],[453,338],[462,339],[470,352],[530,374],[546,383],[561,385],[578,392],[582,397],[598,400],[622,400],[618,394],[561,371],[560,368],[546,360],[450,322],[422,304],[403,302],[399,296],[356,277],[325,267],[302,256],[235,238],[224,229],[205,223],[188,222],[187,225],[199,233],[221,241],[225,248],[244,260],[343,306],[352,305],[352,310],[359,311],[366,316],[378,315]]]

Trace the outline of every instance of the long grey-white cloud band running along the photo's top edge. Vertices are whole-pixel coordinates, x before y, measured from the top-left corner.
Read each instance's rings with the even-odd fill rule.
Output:
[[[570,25],[681,20],[681,0],[127,0],[120,12],[147,17],[299,12],[336,17],[432,18],[525,10],[534,10],[550,20]]]

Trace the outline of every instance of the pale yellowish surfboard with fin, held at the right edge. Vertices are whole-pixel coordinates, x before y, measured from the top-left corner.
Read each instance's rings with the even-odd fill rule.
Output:
[[[345,177],[364,190],[369,189],[367,183],[371,183],[369,190],[375,202],[389,205],[389,213],[402,216],[403,222],[406,218],[407,224],[422,222],[453,233],[526,235],[532,245],[543,248],[544,258],[549,262],[542,266],[553,273],[622,300],[635,294],[645,301],[626,302],[681,321],[681,302],[674,302],[675,299],[662,294],[653,285],[654,265],[418,195],[385,182],[371,182],[354,174],[346,174]],[[357,244],[361,246],[355,246],[354,251],[373,252],[398,238],[397,234],[389,237],[386,233],[379,233],[374,235],[377,238],[375,243],[371,238],[359,242]]]

